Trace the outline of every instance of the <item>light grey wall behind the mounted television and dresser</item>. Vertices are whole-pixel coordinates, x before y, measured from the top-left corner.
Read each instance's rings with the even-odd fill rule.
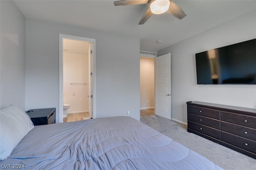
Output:
[[[256,85],[197,85],[195,53],[256,38],[256,11],[158,51],[171,53],[172,119],[187,122],[186,101],[254,108]]]

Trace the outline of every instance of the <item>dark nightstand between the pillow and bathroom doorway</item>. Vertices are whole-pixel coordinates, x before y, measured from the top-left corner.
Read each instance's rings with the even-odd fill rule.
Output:
[[[26,111],[34,125],[49,125],[55,123],[56,109],[30,109]]]

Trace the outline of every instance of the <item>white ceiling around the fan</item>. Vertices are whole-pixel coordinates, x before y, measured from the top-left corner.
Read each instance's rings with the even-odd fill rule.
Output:
[[[113,0],[14,2],[26,18],[139,38],[142,51],[158,51],[256,10],[256,0],[174,0],[187,14],[185,18],[178,20],[164,13],[152,15],[144,25],[138,25],[148,4],[114,6]]]

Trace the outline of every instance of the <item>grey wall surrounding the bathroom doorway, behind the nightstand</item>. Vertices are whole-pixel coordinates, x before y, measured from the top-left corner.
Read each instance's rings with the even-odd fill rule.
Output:
[[[26,19],[26,109],[56,107],[59,34],[96,39],[96,117],[140,120],[140,40]]]

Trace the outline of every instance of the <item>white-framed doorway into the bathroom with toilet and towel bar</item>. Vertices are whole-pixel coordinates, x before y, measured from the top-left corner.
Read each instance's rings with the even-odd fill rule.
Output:
[[[60,122],[94,118],[95,40],[60,34]]]

